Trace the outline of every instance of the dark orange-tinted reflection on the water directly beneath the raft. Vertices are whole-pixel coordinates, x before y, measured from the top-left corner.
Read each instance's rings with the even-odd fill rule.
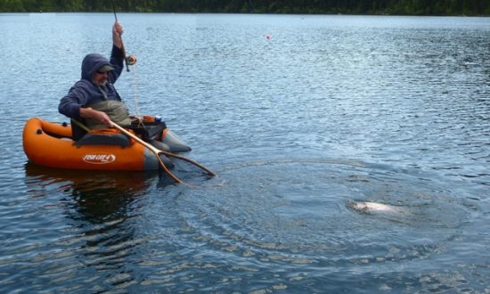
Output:
[[[45,204],[45,208],[68,205],[75,219],[100,223],[127,215],[127,206],[144,194],[154,173],[63,170],[26,164],[26,183],[31,197],[45,197],[45,188],[62,192],[64,200]]]

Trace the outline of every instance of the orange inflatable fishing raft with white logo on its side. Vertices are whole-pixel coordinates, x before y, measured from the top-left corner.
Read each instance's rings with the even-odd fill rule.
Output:
[[[164,134],[166,131],[169,133],[165,129]],[[22,139],[29,160],[45,167],[135,171],[159,168],[151,151],[115,129],[94,130],[75,142],[71,140],[71,126],[30,118]],[[188,149],[184,151],[190,150],[184,147]]]

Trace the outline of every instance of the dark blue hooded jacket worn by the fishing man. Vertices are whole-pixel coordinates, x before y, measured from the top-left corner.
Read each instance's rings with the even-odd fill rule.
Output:
[[[121,101],[116,88],[112,85],[119,78],[124,67],[122,51],[112,46],[110,61],[101,54],[91,53],[82,61],[82,78],[75,83],[66,96],[61,98],[58,110],[69,118],[80,118],[80,108],[103,100]],[[94,73],[104,65],[110,65],[108,82],[105,86],[97,86],[93,82]]]

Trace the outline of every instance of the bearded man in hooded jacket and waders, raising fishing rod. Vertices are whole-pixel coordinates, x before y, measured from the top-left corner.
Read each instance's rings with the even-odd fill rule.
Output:
[[[110,61],[98,53],[87,54],[82,61],[81,79],[71,86],[60,102],[58,110],[71,118],[72,135],[75,141],[83,143],[87,131],[110,127],[110,121],[119,126],[131,128],[144,141],[155,147],[172,152],[190,151],[191,148],[175,134],[161,142],[161,133],[166,128],[159,119],[141,121],[129,115],[114,83],[124,68],[124,47],[120,35],[122,26],[116,21],[112,27],[112,52]],[[144,123],[144,125],[142,124]]]

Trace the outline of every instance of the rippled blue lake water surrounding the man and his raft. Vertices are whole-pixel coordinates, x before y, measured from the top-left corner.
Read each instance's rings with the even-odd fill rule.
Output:
[[[490,18],[118,20],[119,93],[218,176],[29,164],[114,16],[0,14],[0,292],[490,292]]]

